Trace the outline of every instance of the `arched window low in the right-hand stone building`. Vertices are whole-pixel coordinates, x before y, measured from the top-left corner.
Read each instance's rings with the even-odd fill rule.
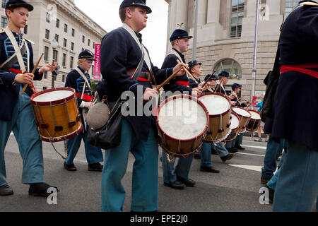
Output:
[[[228,71],[230,79],[242,78],[242,68],[240,64],[233,59],[223,59],[216,64],[213,71],[216,71],[216,76],[218,76],[221,71]]]

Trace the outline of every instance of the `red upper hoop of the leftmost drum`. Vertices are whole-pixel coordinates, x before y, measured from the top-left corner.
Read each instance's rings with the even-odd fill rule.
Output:
[[[71,91],[73,94],[71,94],[69,97],[64,97],[63,99],[60,99],[60,100],[54,100],[54,101],[47,101],[47,102],[38,102],[38,101],[35,101],[34,98],[35,97],[38,97],[42,94],[45,94],[45,93],[50,93],[52,91]],[[43,90],[39,93],[35,93],[33,94],[31,97],[30,97],[30,101],[33,105],[37,105],[37,106],[40,106],[40,107],[45,107],[45,106],[53,106],[53,105],[61,105],[63,104],[64,102],[69,102],[70,100],[73,100],[76,98],[76,93],[75,93],[75,90],[73,88],[69,88],[69,87],[64,87],[64,88],[52,88],[52,89],[49,89],[49,90]]]

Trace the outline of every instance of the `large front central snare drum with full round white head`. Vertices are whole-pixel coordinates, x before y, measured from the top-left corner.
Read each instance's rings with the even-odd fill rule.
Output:
[[[159,144],[174,157],[189,157],[201,148],[208,131],[208,111],[194,97],[164,100],[157,115]]]

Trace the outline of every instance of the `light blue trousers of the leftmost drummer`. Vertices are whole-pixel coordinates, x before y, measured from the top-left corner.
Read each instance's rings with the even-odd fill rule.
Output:
[[[20,92],[22,88],[21,85]],[[26,93],[19,95],[11,121],[0,121],[0,186],[7,184],[4,149],[11,131],[16,137],[23,160],[21,182],[23,184],[42,183],[44,175],[42,141],[35,124],[30,97]]]

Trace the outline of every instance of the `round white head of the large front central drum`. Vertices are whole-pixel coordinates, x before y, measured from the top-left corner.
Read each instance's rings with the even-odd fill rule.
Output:
[[[208,114],[193,97],[177,95],[160,105],[158,126],[175,140],[185,141],[200,136],[208,127]]]

